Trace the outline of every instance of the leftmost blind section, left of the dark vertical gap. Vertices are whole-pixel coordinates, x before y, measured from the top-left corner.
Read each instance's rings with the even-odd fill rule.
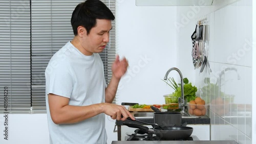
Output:
[[[30,1],[3,0],[0,4],[0,111],[28,111]]]

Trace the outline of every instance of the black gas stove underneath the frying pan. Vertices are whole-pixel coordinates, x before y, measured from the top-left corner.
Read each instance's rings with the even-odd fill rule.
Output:
[[[199,138],[195,135],[191,135],[187,138],[179,138],[179,139],[163,139],[159,138],[155,134],[144,134],[144,135],[135,135],[132,139],[130,138],[131,135],[128,134],[128,136],[125,136],[125,140],[131,140],[131,141],[166,141],[166,140],[178,140],[178,141],[190,141],[190,140],[199,140]]]

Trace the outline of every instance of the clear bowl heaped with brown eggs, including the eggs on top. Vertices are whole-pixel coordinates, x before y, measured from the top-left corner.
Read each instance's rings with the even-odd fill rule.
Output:
[[[187,107],[190,116],[204,116],[207,114],[208,105],[200,97],[189,101]]]

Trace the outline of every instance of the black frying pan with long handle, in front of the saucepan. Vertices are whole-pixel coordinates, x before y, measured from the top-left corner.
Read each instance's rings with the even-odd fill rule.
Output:
[[[163,128],[162,130],[160,127],[149,129],[146,126],[142,126],[135,123],[123,123],[123,125],[131,128],[138,128],[141,130],[141,132],[153,133],[153,134],[156,134],[158,137],[165,138],[165,139],[187,138],[193,132],[193,128],[183,127],[183,126],[165,126],[165,127],[162,127]]]

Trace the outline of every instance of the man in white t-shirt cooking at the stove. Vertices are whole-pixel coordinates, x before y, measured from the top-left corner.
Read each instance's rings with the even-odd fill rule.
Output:
[[[127,70],[126,59],[116,57],[106,86],[98,54],[109,42],[114,19],[99,0],[88,0],[73,11],[75,36],[54,54],[45,73],[50,143],[106,143],[104,114],[121,121],[135,119],[125,107],[112,104]]]

